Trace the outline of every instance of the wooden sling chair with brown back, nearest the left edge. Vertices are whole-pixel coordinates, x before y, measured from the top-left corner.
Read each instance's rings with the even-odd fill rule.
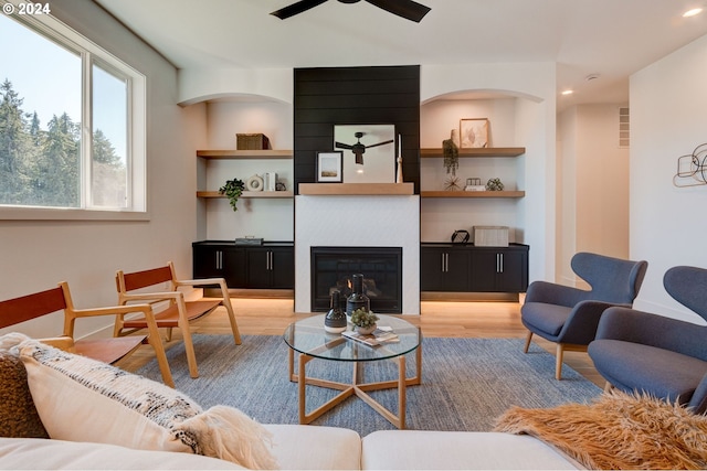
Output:
[[[20,298],[0,301],[0,329],[20,322],[36,319],[57,311],[64,311],[64,332],[61,336],[39,339],[42,343],[55,346],[66,352],[84,355],[101,362],[114,364],[128,356],[148,342],[155,349],[159,370],[165,384],[175,387],[165,347],[159,340],[157,323],[152,308],[149,304],[114,306],[95,309],[76,309],[68,291],[68,283],[62,281],[57,288]],[[146,319],[147,335],[130,335],[124,338],[107,338],[95,340],[76,340],[74,325],[76,319],[98,315],[119,315],[140,313]]]

